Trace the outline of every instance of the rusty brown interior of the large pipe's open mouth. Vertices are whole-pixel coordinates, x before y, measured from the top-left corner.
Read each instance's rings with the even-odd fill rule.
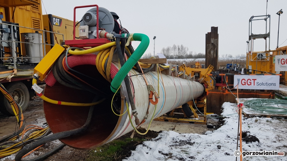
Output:
[[[73,69],[100,80],[100,82],[96,82],[93,79],[73,73],[108,94],[108,96],[105,96],[101,92],[98,92],[99,96],[101,98],[105,97],[106,100],[101,104],[96,105],[88,130],[82,134],[61,139],[61,142],[70,147],[77,149],[91,149],[98,146],[98,144],[108,138],[116,127],[119,116],[113,114],[111,110],[111,99],[113,93],[110,90],[110,83],[100,75],[96,66],[79,65]],[[77,103],[90,103],[96,96],[90,92],[68,88],[58,82],[53,87],[46,86],[44,95],[53,100]],[[116,99],[117,98],[115,97],[114,100]],[[118,98],[117,104],[121,107],[120,98]],[[73,130],[83,126],[86,122],[89,108],[90,107],[83,106],[56,105],[44,101],[45,118],[53,133]]]

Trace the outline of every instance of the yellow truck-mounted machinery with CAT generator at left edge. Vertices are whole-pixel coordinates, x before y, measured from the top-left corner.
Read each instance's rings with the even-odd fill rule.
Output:
[[[41,2],[0,0],[0,80],[13,93],[23,111],[28,107],[29,100],[35,97],[31,89],[32,69],[52,46],[73,39],[73,21],[55,15],[42,15]],[[78,37],[79,32],[75,33]],[[0,96],[0,112],[14,115],[3,96]]]

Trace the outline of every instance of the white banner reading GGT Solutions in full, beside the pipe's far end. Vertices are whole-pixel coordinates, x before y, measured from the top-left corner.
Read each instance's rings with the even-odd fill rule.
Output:
[[[234,75],[234,87],[238,85],[238,89],[279,90],[279,79],[279,75]]]

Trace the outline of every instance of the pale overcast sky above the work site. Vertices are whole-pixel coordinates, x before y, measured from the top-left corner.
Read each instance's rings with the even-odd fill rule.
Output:
[[[189,51],[205,53],[205,33],[218,27],[219,55],[245,54],[248,40],[249,18],[266,14],[266,0],[42,0],[48,14],[73,20],[75,6],[97,4],[119,15],[121,24],[130,33],[144,33],[150,38],[146,53],[162,47],[185,45]],[[43,14],[46,14],[42,4]],[[271,15],[270,49],[277,46],[278,15],[280,9],[279,45],[287,39],[287,1],[269,0],[267,14]],[[79,21],[88,8],[77,9]],[[253,23],[254,34],[265,33],[265,21]],[[267,31],[268,32],[268,31]],[[136,48],[138,42],[133,42]],[[265,41],[255,40],[254,51],[264,51]],[[268,43],[267,43],[268,44]],[[287,45],[285,41],[281,46]],[[268,49],[268,47],[267,47]]]

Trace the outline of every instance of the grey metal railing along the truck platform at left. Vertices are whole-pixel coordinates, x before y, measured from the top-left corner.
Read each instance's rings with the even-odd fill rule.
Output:
[[[62,33],[56,33],[56,32],[52,32],[52,31],[47,31],[47,30],[41,30],[41,29],[34,29],[34,28],[30,28],[30,27],[24,27],[24,26],[19,26],[19,25],[13,25],[13,24],[9,24],[9,23],[0,23],[0,24],[3,24],[3,25],[8,25],[8,26],[11,26],[10,27],[10,32],[9,33],[11,33],[11,40],[0,40],[1,42],[6,42],[8,45],[9,45],[9,43],[8,42],[11,42],[12,43],[12,45],[10,46],[9,45],[9,47],[11,48],[11,51],[10,51],[10,57],[5,57],[5,55],[3,56],[3,57],[0,57],[0,59],[12,59],[12,61],[13,61],[13,67],[14,67],[14,69],[16,69],[17,67],[16,67],[16,62],[17,62],[17,58],[19,59],[19,58],[37,58],[37,57],[26,57],[26,56],[22,56],[22,57],[19,57],[19,56],[17,56],[17,54],[19,54],[19,53],[17,53],[17,49],[16,49],[16,46],[15,46],[15,43],[28,43],[28,44],[41,44],[41,45],[43,45],[43,55],[45,56],[46,55],[46,45],[50,45],[50,46],[53,46],[53,45],[55,45],[55,44],[47,44],[47,43],[45,43],[46,41],[45,41],[45,33],[53,33],[53,34],[58,34],[58,35],[62,35],[62,37],[63,37],[63,42],[65,42],[65,38],[64,38],[64,34],[62,34]],[[36,30],[36,31],[42,31],[42,33],[41,33],[41,35],[42,35],[42,43],[31,43],[31,42],[23,42],[23,40],[22,41],[15,41],[14,40],[14,27],[19,27],[19,28],[25,28],[25,29],[32,29],[32,30]],[[20,29],[19,29],[20,30]],[[18,30],[16,30],[16,31],[18,31]],[[18,31],[19,32],[19,31]],[[40,33],[40,32],[39,32]],[[20,35],[20,32],[19,32],[19,35]],[[21,36],[21,35],[20,35]],[[20,45],[20,47],[21,47],[21,45]],[[40,56],[39,58],[43,58],[44,56]]]

